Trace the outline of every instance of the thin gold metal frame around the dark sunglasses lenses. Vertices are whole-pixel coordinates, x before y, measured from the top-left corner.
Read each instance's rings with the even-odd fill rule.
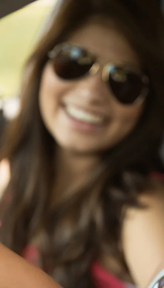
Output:
[[[76,43],[72,43],[72,42],[62,42],[60,44],[57,44],[51,51],[49,51],[47,53],[47,56],[50,60],[53,60],[55,58],[55,56],[57,56],[57,54],[61,51],[61,49],[64,46],[72,46],[72,47],[78,47],[83,49],[84,51],[87,51],[88,56],[90,56],[91,58],[95,59],[92,67],[82,76],[77,77],[76,79],[63,79],[64,81],[75,81],[78,80],[81,77],[85,77],[85,76],[94,76],[100,69],[101,64],[99,61],[99,57],[95,55],[95,53],[93,53],[92,51],[90,51],[89,49],[83,48],[81,45],[76,44]],[[133,72],[134,74],[136,74],[137,76],[139,76],[139,78],[141,78],[141,81],[143,83],[143,88],[141,90],[140,95],[131,103],[122,103],[121,101],[119,101],[119,99],[117,99],[117,96],[115,96],[115,94],[112,91],[112,88],[110,87],[110,85],[108,85],[108,88],[112,94],[112,97],[115,98],[115,100],[119,103],[122,103],[122,105],[134,105],[136,103],[142,103],[146,96],[148,95],[148,85],[149,85],[149,78],[148,76],[146,76],[146,74],[144,74],[139,68],[133,67],[132,65],[128,64],[128,63],[124,63],[123,61],[118,61],[118,62],[108,62],[107,64],[105,64],[103,66],[102,69],[102,80],[107,83],[109,81],[109,77],[110,77],[110,71],[113,67],[117,67],[117,68],[124,68],[125,70],[129,71],[129,72]]]

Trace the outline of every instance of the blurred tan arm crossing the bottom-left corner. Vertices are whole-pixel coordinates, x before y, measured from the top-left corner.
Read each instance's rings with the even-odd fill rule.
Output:
[[[0,244],[1,288],[61,288],[41,269]]]

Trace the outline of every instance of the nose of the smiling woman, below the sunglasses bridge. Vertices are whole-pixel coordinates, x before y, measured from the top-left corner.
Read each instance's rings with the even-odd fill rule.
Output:
[[[106,83],[102,80],[102,69],[95,75],[88,75],[77,81],[76,93],[83,101],[92,105],[106,105],[109,103],[110,91]]]

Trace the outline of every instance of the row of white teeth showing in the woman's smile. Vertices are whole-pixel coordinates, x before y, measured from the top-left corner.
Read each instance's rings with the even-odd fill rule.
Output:
[[[64,110],[67,115],[77,121],[90,124],[90,125],[98,125],[101,126],[106,123],[107,118],[100,115],[95,115],[90,113],[82,108],[78,108],[73,105],[65,105]]]

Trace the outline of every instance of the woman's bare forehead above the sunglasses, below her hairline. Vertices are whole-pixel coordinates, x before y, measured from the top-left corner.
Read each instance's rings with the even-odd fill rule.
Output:
[[[92,18],[76,30],[69,41],[80,44],[98,55],[102,61],[124,61],[139,66],[139,57],[111,21]]]

